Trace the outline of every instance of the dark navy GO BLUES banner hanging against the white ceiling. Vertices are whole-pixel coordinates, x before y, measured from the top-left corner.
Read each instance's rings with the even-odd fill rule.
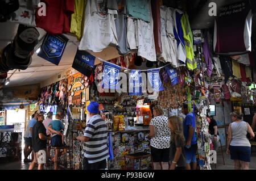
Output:
[[[73,61],[72,68],[76,69],[80,73],[87,77],[90,77],[94,69],[95,57],[84,51],[77,49],[75,59]]]

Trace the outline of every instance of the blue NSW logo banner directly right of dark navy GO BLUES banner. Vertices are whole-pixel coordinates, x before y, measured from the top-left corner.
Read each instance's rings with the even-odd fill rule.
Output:
[[[104,62],[102,87],[104,89],[117,89],[120,71],[119,66]]]

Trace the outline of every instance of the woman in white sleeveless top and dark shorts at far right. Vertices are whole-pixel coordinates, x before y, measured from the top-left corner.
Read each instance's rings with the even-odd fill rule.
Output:
[[[234,170],[249,170],[251,144],[246,135],[249,133],[254,138],[253,129],[242,121],[242,113],[234,111],[231,115],[233,123],[229,124],[226,153],[234,160]]]

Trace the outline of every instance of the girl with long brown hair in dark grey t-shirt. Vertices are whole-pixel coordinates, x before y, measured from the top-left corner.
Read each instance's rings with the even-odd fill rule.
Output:
[[[171,129],[170,170],[185,170],[185,137],[183,135],[183,122],[177,116],[168,119]]]

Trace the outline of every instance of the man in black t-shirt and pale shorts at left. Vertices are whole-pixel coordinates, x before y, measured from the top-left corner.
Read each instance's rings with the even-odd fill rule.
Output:
[[[44,113],[38,111],[37,114],[36,123],[32,129],[32,147],[35,154],[28,170],[33,170],[36,163],[38,163],[38,170],[43,170],[46,164],[46,141],[51,140],[51,137],[46,136],[46,128],[43,125]]]

